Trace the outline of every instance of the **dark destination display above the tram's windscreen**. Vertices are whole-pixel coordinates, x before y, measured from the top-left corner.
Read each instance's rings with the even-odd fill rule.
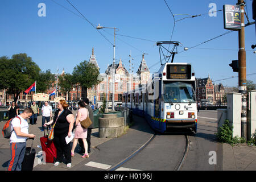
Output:
[[[167,65],[167,79],[191,79],[191,65]]]

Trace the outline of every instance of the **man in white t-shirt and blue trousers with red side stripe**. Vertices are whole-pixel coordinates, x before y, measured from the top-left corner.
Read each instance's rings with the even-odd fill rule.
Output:
[[[11,160],[8,164],[8,171],[20,171],[26,151],[26,139],[35,138],[36,135],[28,134],[28,118],[31,117],[33,111],[30,108],[24,109],[23,113],[18,115],[11,121],[10,147]]]

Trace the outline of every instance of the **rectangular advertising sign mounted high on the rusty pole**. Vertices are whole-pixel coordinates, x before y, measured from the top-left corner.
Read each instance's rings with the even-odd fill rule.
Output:
[[[223,5],[224,28],[227,30],[241,29],[241,7],[238,5]]]

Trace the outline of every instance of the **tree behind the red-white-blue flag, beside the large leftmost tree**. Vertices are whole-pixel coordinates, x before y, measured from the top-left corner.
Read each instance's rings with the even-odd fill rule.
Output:
[[[46,72],[40,72],[36,78],[36,92],[46,92],[55,82],[55,75],[49,69]]]

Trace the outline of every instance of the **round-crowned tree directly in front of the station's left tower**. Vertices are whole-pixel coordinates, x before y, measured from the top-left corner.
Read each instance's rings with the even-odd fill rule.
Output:
[[[87,89],[100,83],[98,75],[100,75],[99,69],[86,60],[73,69],[74,81],[85,89],[85,98],[87,98]]]

